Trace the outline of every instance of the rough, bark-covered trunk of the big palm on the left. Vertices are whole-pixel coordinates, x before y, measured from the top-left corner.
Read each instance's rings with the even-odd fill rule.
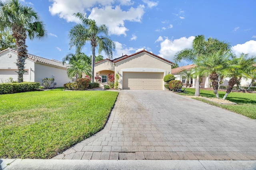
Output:
[[[25,60],[28,57],[26,46],[26,30],[22,27],[14,25],[12,27],[12,35],[16,39],[16,50],[18,52],[18,58],[16,66],[18,67],[18,83],[23,82],[23,74],[27,72],[25,68]]]

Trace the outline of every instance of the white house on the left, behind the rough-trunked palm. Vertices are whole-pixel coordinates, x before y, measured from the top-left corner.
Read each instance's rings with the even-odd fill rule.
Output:
[[[17,71],[17,51],[14,49],[5,49],[0,51],[0,83],[6,82],[10,77],[14,81],[18,80]],[[24,82],[40,82],[43,78],[54,78],[54,87],[62,87],[63,84],[72,80],[67,76],[67,67],[69,64],[62,64],[61,61],[45,59],[35,55],[28,54],[25,62],[23,75]]]

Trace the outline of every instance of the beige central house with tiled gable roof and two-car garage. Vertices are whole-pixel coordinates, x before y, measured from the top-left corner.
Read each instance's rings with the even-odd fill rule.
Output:
[[[94,75],[101,76],[101,86],[107,84],[108,74],[119,74],[120,89],[164,90],[163,78],[174,63],[148,51],[124,55],[114,60],[95,63]]]

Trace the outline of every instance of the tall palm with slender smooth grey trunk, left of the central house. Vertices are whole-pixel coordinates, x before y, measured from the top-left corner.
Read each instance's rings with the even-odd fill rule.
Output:
[[[96,21],[88,19],[86,14],[78,12],[75,16],[82,21],[82,24],[79,23],[70,30],[70,48],[75,46],[76,52],[81,52],[86,42],[90,42],[92,50],[92,82],[94,82],[95,48],[98,47],[98,53],[104,51],[112,59],[112,51],[115,50],[116,45],[108,36],[108,27],[106,25],[96,25]]]

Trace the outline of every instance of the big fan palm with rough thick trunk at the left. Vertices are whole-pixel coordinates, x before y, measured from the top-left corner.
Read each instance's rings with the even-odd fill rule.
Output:
[[[18,0],[0,0],[0,30],[9,27],[15,38],[18,51],[17,67],[18,82],[23,82],[25,60],[28,57],[26,38],[44,39],[46,30],[38,14],[28,6],[23,6]]]

